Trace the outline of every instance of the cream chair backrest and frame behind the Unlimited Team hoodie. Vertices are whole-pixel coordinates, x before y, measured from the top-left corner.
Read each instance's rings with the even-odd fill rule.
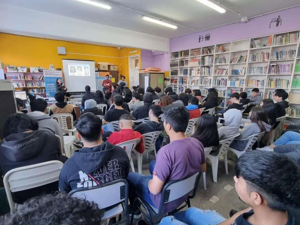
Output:
[[[59,173],[63,165],[62,162],[54,160],[8,171],[4,175],[3,183],[10,206],[10,212],[15,211],[15,204],[11,192],[28,190],[58,181]]]

